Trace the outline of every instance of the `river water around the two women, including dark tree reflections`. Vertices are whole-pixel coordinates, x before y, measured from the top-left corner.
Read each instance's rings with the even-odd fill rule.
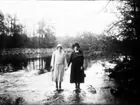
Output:
[[[108,77],[105,66],[113,68],[115,64],[107,60],[86,59],[85,83],[81,91],[75,91],[75,85],[69,83],[70,67],[65,72],[62,84],[63,92],[55,92],[55,83],[51,80],[51,56],[20,55],[2,56],[0,64],[12,65],[14,72],[0,75],[0,94],[23,97],[29,104],[128,104],[129,100],[116,97],[110,89],[118,84]],[[40,69],[47,72],[36,75]]]

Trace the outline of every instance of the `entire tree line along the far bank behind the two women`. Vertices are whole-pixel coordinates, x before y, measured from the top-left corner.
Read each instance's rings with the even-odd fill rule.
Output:
[[[45,20],[41,20],[32,37],[29,37],[25,32],[25,27],[18,22],[16,17],[0,12],[0,49],[52,48],[57,43],[62,43],[64,47],[70,48],[73,43],[78,42],[84,50],[120,52],[121,41],[114,37],[91,32],[83,32],[75,37],[56,37],[55,29],[46,23]]]

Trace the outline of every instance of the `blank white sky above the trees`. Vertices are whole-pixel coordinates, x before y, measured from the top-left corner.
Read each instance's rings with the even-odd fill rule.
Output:
[[[44,19],[55,27],[57,36],[74,36],[83,31],[100,34],[117,19],[111,12],[117,11],[116,2],[112,1],[104,8],[107,2],[0,0],[0,10],[4,14],[16,14],[29,33],[39,20]]]

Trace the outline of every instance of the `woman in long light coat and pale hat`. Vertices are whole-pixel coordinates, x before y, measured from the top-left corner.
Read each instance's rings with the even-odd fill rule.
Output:
[[[67,60],[62,45],[57,45],[57,50],[53,52],[51,58],[52,80],[56,83],[56,90],[61,91],[61,83],[63,82],[64,71],[67,69]]]

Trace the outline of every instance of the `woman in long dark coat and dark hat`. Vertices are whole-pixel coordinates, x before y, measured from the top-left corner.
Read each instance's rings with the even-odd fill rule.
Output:
[[[80,46],[78,43],[75,43],[72,47],[74,51],[68,64],[71,64],[70,83],[75,83],[76,89],[80,89],[80,83],[84,83],[84,56],[83,52],[79,50]]]

